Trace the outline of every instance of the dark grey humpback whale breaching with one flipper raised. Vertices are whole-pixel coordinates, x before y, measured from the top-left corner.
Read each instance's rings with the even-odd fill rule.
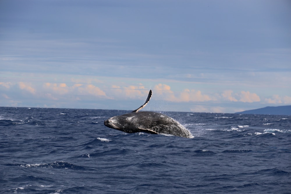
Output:
[[[150,101],[152,90],[145,103],[138,109],[124,115],[114,116],[104,121],[104,125],[126,133],[145,132],[149,134],[170,134],[174,136],[193,138],[190,131],[173,118],[161,113],[141,111]]]

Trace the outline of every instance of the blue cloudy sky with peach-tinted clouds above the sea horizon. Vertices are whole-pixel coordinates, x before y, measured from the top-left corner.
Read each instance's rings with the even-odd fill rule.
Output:
[[[291,1],[1,0],[0,106],[291,105]]]

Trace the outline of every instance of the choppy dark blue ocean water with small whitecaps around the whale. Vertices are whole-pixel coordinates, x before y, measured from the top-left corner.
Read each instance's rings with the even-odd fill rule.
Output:
[[[291,116],[165,112],[191,139],[104,126],[127,112],[0,107],[0,192],[291,193]]]

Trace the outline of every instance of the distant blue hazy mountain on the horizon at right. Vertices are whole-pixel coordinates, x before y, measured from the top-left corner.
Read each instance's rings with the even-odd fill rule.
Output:
[[[235,114],[263,114],[263,115],[291,115],[290,106],[267,106],[249,111],[237,112]]]

